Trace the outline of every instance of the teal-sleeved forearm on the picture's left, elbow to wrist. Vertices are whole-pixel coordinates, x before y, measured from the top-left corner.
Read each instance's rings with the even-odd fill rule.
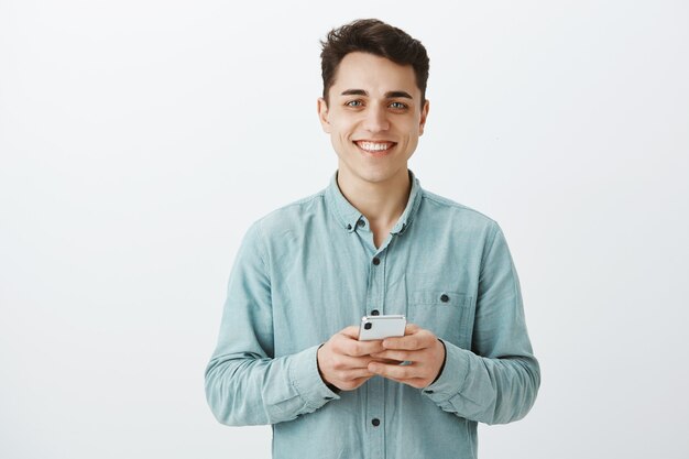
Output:
[[[206,369],[211,412],[227,425],[276,424],[339,398],[318,374],[317,349],[276,359],[248,353],[214,356]]]

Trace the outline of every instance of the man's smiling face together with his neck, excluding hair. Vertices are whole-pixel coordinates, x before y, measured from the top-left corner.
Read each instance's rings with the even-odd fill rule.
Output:
[[[318,112],[339,156],[337,183],[368,217],[379,247],[407,203],[407,161],[424,132],[428,101],[411,65],[368,52],[344,55],[330,85]]]

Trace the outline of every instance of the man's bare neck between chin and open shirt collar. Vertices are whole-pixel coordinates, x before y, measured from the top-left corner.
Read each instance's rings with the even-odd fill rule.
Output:
[[[367,182],[340,168],[337,183],[344,198],[374,228],[394,226],[404,212],[412,190],[406,168],[385,182]]]

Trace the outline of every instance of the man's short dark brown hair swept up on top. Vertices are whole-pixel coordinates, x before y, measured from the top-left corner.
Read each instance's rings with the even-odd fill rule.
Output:
[[[340,62],[349,53],[359,51],[389,58],[395,64],[412,65],[416,86],[422,90],[422,108],[426,100],[428,80],[428,54],[418,40],[401,29],[378,19],[359,19],[332,29],[321,41],[320,68],[322,74],[322,98],[328,103],[328,91],[335,84],[335,74]]]

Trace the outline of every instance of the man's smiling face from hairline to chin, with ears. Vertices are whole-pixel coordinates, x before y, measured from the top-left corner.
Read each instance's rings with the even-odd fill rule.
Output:
[[[338,179],[382,184],[406,177],[428,114],[413,67],[350,53],[340,62],[328,97],[329,105],[318,99],[318,112],[339,156]]]

